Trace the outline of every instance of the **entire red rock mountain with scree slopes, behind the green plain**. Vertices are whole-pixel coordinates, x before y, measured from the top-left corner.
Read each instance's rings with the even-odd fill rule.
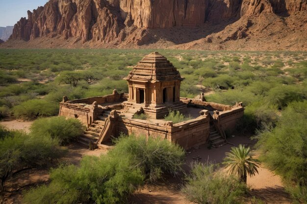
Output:
[[[306,7],[307,0],[50,0],[1,46],[307,50]]]

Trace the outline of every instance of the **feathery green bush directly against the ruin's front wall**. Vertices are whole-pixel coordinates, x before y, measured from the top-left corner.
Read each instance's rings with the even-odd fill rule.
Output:
[[[110,155],[122,155],[131,165],[142,170],[149,181],[160,179],[164,173],[177,175],[181,172],[184,150],[168,140],[145,136],[121,136],[115,140],[116,148]]]

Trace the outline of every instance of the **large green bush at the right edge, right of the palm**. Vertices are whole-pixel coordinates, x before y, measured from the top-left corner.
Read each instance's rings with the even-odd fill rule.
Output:
[[[257,145],[262,159],[271,170],[287,181],[296,199],[307,201],[307,101],[292,102],[282,112],[277,126],[261,132]]]

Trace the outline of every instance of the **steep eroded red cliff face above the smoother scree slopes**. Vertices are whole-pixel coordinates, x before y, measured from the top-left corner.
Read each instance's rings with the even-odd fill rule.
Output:
[[[307,0],[50,0],[28,11],[28,18],[15,24],[10,39],[60,36],[75,43],[144,45],[153,38],[152,29],[195,28],[245,19],[235,37],[230,37],[241,39],[249,35],[253,24],[247,18],[289,16],[306,7]]]

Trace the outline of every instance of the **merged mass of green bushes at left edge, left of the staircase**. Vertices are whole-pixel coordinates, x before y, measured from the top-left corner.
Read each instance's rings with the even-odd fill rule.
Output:
[[[5,181],[33,168],[50,168],[63,157],[66,142],[80,136],[84,130],[77,119],[41,118],[31,126],[31,132],[9,131],[0,126],[0,189]]]

